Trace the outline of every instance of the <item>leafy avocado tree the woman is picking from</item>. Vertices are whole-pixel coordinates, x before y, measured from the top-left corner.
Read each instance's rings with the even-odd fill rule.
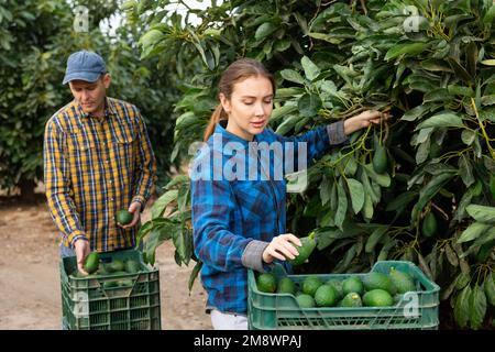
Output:
[[[128,11],[140,15],[140,3],[129,1]],[[177,67],[193,67],[176,106],[176,150],[201,140],[216,105],[211,87],[241,56],[276,74],[277,133],[389,110],[391,121],[354,133],[309,169],[302,194],[288,197],[290,231],[316,230],[318,239],[317,255],[300,271],[352,273],[380,260],[413,261],[442,287],[447,317],[461,328],[486,327],[495,307],[495,6],[364,6],[213,2],[190,11],[201,19],[191,25],[177,14],[157,20],[161,8],[148,4],[140,19],[150,30],[140,43],[144,56],[164,61],[165,48],[176,47]],[[178,264],[197,262],[187,177],[166,190],[141,231],[148,260],[172,238]]]

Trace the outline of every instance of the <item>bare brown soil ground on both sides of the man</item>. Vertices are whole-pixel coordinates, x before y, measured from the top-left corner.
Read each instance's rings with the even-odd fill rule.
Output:
[[[57,330],[62,327],[57,229],[43,195],[32,204],[0,197],[0,330]],[[142,221],[150,219],[150,202]],[[199,279],[189,295],[193,271],[174,261],[167,241],[156,253],[160,268],[162,329],[211,329]]]

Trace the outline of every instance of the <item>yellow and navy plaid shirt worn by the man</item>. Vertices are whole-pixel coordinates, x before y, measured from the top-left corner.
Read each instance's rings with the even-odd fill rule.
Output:
[[[116,215],[132,201],[144,208],[154,190],[156,162],[139,110],[107,98],[103,118],[73,101],[46,123],[46,198],[64,245],[86,238],[92,251],[135,245],[136,228],[124,230]]]

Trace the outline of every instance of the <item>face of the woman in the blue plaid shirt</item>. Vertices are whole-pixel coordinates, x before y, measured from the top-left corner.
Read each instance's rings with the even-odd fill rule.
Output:
[[[263,132],[272,114],[272,82],[263,76],[249,77],[234,84],[230,100],[220,94],[220,101],[229,114],[227,131],[252,141]]]

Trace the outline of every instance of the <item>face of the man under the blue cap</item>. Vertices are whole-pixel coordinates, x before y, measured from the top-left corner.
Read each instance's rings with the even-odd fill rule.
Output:
[[[77,79],[69,81],[70,91],[82,111],[92,114],[103,112],[106,90],[109,86],[110,76],[108,74],[94,82]]]

